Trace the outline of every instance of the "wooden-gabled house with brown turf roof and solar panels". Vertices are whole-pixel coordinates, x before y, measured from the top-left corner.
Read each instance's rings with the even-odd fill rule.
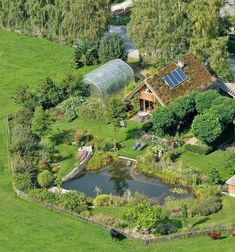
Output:
[[[196,90],[203,91],[215,85],[216,79],[206,66],[189,52],[178,62],[172,63],[144,80],[127,100],[138,96],[140,110],[152,111],[158,104],[165,106],[180,96]]]

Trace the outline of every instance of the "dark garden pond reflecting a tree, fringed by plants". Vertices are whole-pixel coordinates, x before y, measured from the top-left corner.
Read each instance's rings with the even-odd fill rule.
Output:
[[[86,172],[80,177],[62,184],[68,190],[78,190],[88,196],[95,196],[95,188],[99,187],[101,193],[123,195],[129,189],[131,192],[139,192],[154,201],[163,202],[168,196],[185,198],[190,194],[173,193],[169,185],[148,178],[144,175],[134,175],[130,167],[111,166],[97,172]]]

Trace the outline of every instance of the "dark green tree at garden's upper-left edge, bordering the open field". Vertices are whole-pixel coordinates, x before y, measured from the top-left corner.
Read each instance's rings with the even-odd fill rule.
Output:
[[[55,107],[64,99],[61,89],[50,78],[46,78],[39,84],[37,97],[38,103],[44,110]]]

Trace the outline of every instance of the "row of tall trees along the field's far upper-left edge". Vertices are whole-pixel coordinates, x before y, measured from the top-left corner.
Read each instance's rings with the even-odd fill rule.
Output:
[[[58,41],[103,34],[111,17],[109,0],[1,0],[0,26]]]

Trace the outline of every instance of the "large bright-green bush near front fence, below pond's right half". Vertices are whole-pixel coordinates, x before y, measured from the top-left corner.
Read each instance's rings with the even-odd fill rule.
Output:
[[[158,224],[165,222],[168,219],[168,214],[159,205],[152,205],[150,202],[144,201],[128,209],[123,217],[141,228],[151,230],[156,228]]]

